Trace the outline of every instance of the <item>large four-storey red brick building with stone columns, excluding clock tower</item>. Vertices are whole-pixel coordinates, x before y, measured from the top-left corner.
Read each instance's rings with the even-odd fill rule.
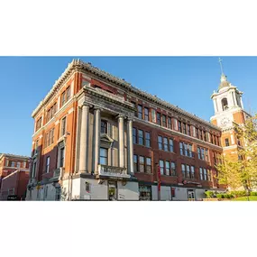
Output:
[[[188,200],[222,188],[220,127],[90,63],[73,60],[32,117],[28,200]]]

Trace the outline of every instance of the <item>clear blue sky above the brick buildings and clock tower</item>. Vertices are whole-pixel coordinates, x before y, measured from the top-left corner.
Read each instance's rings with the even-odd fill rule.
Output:
[[[32,111],[73,58],[124,78],[207,121],[220,79],[218,57],[0,57],[0,152],[30,155]],[[244,92],[244,109],[257,110],[257,58],[221,57],[228,80]]]

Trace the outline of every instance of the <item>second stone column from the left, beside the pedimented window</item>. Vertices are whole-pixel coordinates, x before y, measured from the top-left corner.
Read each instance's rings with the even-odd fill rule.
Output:
[[[94,165],[94,170],[95,173],[98,172],[98,164],[99,164],[99,156],[100,156],[100,126],[101,126],[101,116],[100,116],[100,109],[96,108],[95,109],[95,165]]]

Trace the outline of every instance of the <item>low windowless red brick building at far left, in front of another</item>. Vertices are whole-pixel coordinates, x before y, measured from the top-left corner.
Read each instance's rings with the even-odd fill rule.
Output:
[[[15,170],[2,179],[0,191],[0,200],[7,200],[7,197],[13,196],[17,200],[24,200],[26,196],[27,185],[30,179],[30,170]]]

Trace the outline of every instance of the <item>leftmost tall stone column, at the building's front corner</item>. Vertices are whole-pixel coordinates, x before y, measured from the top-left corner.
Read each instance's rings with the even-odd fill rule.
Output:
[[[82,106],[79,150],[79,172],[87,172],[89,106]]]

